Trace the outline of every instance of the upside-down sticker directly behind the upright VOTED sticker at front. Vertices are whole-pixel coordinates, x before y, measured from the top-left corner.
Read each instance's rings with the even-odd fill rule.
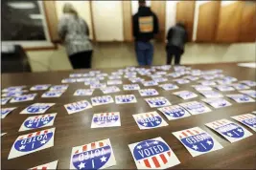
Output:
[[[167,122],[157,112],[132,115],[140,129],[153,129],[168,126]]]

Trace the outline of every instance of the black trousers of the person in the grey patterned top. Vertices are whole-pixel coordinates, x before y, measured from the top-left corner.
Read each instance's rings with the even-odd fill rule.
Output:
[[[69,55],[69,60],[73,69],[90,69],[91,68],[92,51],[74,53]]]

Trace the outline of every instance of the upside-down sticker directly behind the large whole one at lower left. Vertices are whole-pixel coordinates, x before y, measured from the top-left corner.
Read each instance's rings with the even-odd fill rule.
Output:
[[[56,116],[57,114],[46,114],[41,116],[28,117],[20,126],[19,132],[53,126]]]

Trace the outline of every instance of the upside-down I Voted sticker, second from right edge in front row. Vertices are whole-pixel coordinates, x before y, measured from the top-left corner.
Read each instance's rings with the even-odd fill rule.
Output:
[[[252,136],[244,127],[228,119],[220,119],[206,123],[205,125],[221,134],[222,137],[226,138],[231,143]]]

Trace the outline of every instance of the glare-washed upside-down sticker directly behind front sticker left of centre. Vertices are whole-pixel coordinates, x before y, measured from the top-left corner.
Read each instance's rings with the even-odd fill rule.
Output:
[[[91,128],[121,126],[120,113],[101,113],[94,114],[91,121]]]

